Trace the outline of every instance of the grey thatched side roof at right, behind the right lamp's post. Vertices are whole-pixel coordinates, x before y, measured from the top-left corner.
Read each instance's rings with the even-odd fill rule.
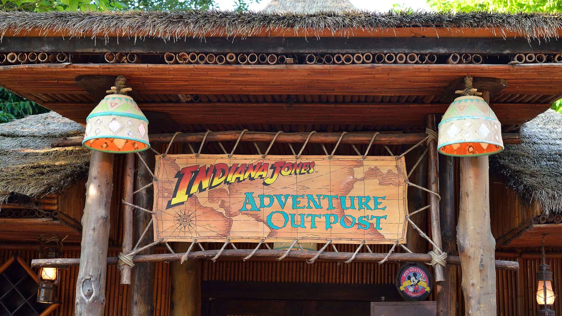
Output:
[[[562,212],[562,114],[549,109],[521,127],[521,144],[506,145],[490,164],[520,196],[543,212]]]

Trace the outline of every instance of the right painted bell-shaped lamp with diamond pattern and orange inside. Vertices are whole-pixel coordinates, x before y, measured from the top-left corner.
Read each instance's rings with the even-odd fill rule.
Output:
[[[491,155],[504,149],[501,124],[481,97],[456,98],[439,123],[438,150],[457,157]]]

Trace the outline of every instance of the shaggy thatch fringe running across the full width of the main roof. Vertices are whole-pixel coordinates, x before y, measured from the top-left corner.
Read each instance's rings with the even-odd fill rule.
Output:
[[[350,33],[405,27],[486,28],[503,34],[514,31],[527,38],[558,38],[562,13],[322,11],[316,13],[268,13],[233,11],[106,11],[43,13],[0,11],[0,35],[6,31],[38,29],[72,36],[127,34],[182,38],[184,36],[250,36],[262,30],[289,30],[299,35],[319,31]]]

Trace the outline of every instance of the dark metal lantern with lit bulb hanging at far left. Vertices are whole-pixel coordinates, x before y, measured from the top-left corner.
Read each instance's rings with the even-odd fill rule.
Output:
[[[64,240],[64,239],[63,239]],[[39,259],[55,259],[62,255],[62,240],[55,233],[44,233],[39,239]],[[37,274],[37,301],[56,303],[55,294],[60,281],[57,268],[42,267]]]

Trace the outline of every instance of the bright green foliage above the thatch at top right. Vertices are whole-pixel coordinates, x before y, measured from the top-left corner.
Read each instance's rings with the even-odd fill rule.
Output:
[[[561,12],[558,0],[427,0],[434,10],[499,11],[499,12]]]

